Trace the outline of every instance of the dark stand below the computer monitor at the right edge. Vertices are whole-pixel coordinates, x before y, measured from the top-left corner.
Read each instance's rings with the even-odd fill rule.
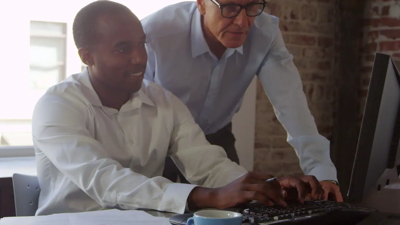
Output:
[[[378,209],[382,213],[400,213],[400,179],[397,168],[386,169],[362,202],[357,204]]]

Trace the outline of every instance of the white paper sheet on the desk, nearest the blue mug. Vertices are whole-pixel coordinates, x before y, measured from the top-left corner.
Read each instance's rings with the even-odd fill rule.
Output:
[[[92,217],[83,214],[71,214],[70,225],[170,225],[165,217],[134,217],[130,215],[105,215]]]

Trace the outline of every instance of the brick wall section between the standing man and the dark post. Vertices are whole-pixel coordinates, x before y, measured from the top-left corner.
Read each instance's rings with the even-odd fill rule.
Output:
[[[280,18],[280,29],[288,50],[294,55],[318,130],[329,139],[336,55],[335,1],[271,0],[268,10]],[[257,86],[254,171],[276,176],[302,173],[298,157],[286,142],[286,132],[276,119],[260,83]]]

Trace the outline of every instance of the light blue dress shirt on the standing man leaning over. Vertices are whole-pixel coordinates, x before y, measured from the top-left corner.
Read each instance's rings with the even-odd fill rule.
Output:
[[[243,46],[228,48],[220,60],[208,48],[200,20],[196,2],[173,4],[142,19],[145,78],[178,96],[210,134],[232,121],[257,75],[304,173],[336,180],[329,141],[318,133],[278,18],[265,12],[257,16]]]

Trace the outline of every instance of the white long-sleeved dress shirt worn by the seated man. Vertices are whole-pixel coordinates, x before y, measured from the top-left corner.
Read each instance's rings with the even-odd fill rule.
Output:
[[[40,98],[32,117],[36,215],[107,208],[183,213],[196,185],[222,187],[247,171],[210,145],[188,108],[144,80],[118,111],[103,106],[88,70]],[[170,155],[192,184],[161,177]]]

